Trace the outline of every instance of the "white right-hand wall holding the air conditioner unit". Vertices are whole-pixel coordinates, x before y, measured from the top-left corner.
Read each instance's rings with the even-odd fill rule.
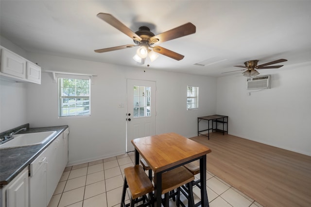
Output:
[[[218,78],[217,113],[229,116],[229,134],[311,155],[310,66],[259,70],[272,77],[271,89],[261,91],[246,90],[242,74]]]

